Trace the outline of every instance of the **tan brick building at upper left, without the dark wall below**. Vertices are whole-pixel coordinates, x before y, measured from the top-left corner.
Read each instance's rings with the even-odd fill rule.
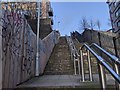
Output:
[[[9,10],[13,12],[18,12],[25,14],[32,19],[36,19],[38,4],[36,2],[2,2],[2,9]],[[51,20],[51,25],[53,24],[52,20],[53,10],[51,8],[51,4],[49,0],[42,0],[40,3],[40,18],[46,19],[49,18]]]

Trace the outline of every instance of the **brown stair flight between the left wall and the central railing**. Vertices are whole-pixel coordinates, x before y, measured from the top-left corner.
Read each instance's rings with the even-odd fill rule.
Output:
[[[48,64],[45,75],[70,75],[73,74],[73,61],[70,59],[70,51],[65,37],[60,37],[55,46]]]

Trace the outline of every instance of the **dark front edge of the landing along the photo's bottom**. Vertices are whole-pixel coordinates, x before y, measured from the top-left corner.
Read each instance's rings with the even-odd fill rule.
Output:
[[[101,90],[99,85],[90,85],[90,86],[61,86],[61,87],[23,87],[16,88],[15,90]],[[106,90],[116,90],[115,86],[107,85]]]

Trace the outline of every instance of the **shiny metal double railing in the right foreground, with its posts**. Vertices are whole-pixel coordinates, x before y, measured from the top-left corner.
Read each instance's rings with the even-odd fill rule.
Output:
[[[105,53],[107,56],[109,56],[114,63],[116,64],[116,70],[113,70],[106,62],[105,60],[99,56],[93,49],[91,49],[92,46],[97,47],[98,49],[100,49],[103,53]],[[115,79],[115,81],[117,82],[117,86],[119,86],[120,84],[120,75],[118,73],[118,65],[120,65],[119,63],[119,59],[117,57],[115,57],[114,55],[111,55],[110,53],[108,53],[107,51],[105,51],[104,49],[102,49],[101,47],[99,47],[97,44],[92,44],[90,47],[87,44],[84,44],[81,49],[80,49],[80,57],[81,57],[81,76],[82,76],[82,81],[85,81],[85,73],[84,73],[84,64],[83,64],[83,50],[86,49],[87,50],[87,56],[88,56],[88,66],[89,66],[89,76],[90,76],[90,81],[92,81],[92,70],[91,70],[91,62],[90,62],[90,53],[95,56],[97,62],[98,62],[98,66],[99,66],[99,75],[100,75],[100,82],[101,82],[101,87],[102,89],[106,89],[106,80],[105,80],[105,73],[104,73],[104,69],[106,69]],[[119,87],[117,87],[117,89],[119,89]]]

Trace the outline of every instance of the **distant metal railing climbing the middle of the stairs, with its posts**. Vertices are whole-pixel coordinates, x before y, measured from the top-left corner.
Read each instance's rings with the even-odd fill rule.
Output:
[[[77,75],[77,67],[78,67],[78,74],[80,74],[80,60],[79,57],[80,55],[78,54],[78,51],[73,43],[73,40],[71,37],[66,36],[70,51],[71,51],[71,59],[74,62],[74,73]],[[77,66],[76,66],[77,63]]]

